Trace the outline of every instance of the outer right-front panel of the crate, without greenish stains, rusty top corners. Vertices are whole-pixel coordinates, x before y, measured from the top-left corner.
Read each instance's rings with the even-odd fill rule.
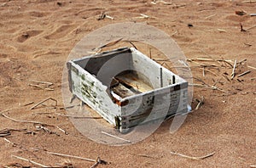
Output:
[[[186,113],[187,87],[187,83],[177,84],[128,98],[129,103],[121,107],[122,128],[164,119],[175,113]]]

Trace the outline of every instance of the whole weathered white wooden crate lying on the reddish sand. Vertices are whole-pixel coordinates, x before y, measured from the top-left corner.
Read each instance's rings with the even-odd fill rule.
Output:
[[[188,82],[135,48],[70,60],[67,68],[73,95],[120,132],[188,112]]]

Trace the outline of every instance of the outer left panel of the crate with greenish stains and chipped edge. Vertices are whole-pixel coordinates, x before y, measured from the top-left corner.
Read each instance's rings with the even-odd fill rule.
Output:
[[[73,94],[90,108],[95,109],[109,123],[115,125],[114,117],[120,115],[120,108],[117,104],[113,104],[108,96],[107,87],[78,64],[72,63],[70,70]]]

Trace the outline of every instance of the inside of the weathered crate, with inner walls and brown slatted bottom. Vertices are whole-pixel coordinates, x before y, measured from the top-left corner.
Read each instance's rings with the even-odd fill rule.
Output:
[[[107,86],[110,96],[117,100],[182,82],[182,78],[134,48],[119,48],[74,63]]]

